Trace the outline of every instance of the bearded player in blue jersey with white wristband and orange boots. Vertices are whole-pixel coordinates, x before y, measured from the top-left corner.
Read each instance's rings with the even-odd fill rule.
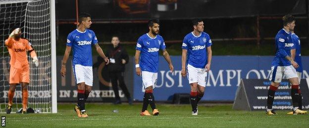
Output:
[[[159,33],[159,21],[150,20],[148,22],[149,32],[143,34],[137,41],[135,52],[135,68],[136,74],[142,76],[145,94],[143,97],[143,108],[140,113],[141,116],[151,116],[147,111],[148,104],[153,109],[153,115],[157,116],[159,111],[154,104],[153,89],[156,85],[159,50],[162,50],[163,57],[169,65],[170,71],[174,70],[171,59],[165,49],[165,43]]]

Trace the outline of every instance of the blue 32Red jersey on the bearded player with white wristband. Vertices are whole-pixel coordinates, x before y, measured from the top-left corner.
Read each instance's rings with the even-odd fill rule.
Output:
[[[140,67],[142,71],[157,72],[159,64],[159,49],[165,49],[165,43],[160,35],[154,38],[148,33],[142,35],[136,44],[136,50],[141,51]]]

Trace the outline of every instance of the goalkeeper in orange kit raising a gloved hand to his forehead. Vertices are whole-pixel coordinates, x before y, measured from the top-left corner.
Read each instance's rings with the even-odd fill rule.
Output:
[[[38,67],[39,60],[36,52],[31,47],[31,43],[26,38],[21,38],[21,29],[18,26],[12,28],[12,32],[5,40],[5,45],[10,55],[9,69],[9,90],[8,104],[6,113],[12,111],[13,97],[16,85],[21,84],[22,87],[22,113],[27,113],[28,104],[28,85],[29,85],[29,62],[27,59],[27,51],[32,57],[32,62]]]

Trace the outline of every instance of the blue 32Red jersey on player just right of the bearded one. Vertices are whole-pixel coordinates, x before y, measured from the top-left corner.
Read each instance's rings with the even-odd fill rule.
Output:
[[[187,49],[187,63],[196,68],[205,68],[207,64],[207,47],[211,46],[211,39],[206,32],[195,36],[193,32],[187,34],[182,43],[182,49]]]

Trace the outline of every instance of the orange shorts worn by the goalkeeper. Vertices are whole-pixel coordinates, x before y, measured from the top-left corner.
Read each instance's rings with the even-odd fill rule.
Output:
[[[23,65],[21,68],[10,66],[9,84],[19,84],[21,82],[29,83],[29,64]]]

